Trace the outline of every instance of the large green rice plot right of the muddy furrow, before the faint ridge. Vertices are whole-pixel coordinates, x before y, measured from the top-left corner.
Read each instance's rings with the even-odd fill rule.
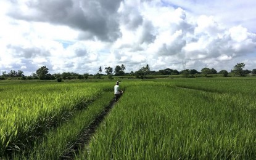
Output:
[[[169,86],[126,87],[78,159],[256,158],[254,98]]]

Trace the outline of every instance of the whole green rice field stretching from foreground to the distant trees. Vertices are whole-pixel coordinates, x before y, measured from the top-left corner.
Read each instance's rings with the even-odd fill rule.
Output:
[[[0,159],[256,158],[255,78],[123,79],[81,140],[114,84],[0,82]]]

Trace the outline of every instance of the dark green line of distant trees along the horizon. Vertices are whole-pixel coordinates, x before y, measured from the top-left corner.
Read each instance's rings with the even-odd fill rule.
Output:
[[[101,76],[107,75],[109,79],[113,79],[113,76],[135,76],[136,78],[147,78],[148,75],[183,75],[185,77],[195,77],[197,74],[204,74],[204,76],[209,76],[209,74],[221,74],[222,76],[228,76],[229,73],[232,73],[234,76],[246,76],[247,74],[256,74],[256,69],[253,70],[243,70],[246,66],[244,63],[237,63],[231,72],[226,70],[217,71],[214,68],[202,68],[202,70],[197,71],[195,69],[189,70],[172,70],[170,68],[165,68],[164,70],[151,71],[149,65],[142,66],[138,71],[131,71],[130,73],[125,73],[125,65],[117,65],[115,69],[110,66],[104,68],[104,73],[102,73],[102,66],[99,67],[99,70],[96,74],[79,74],[73,72],[64,72],[64,73],[54,73],[50,74],[49,69],[46,66],[41,66],[36,70],[35,73],[32,73],[31,76],[24,76],[23,71],[10,70],[10,73],[2,71],[1,79],[6,78],[19,78],[19,79],[42,79],[42,80],[54,80],[62,81],[62,79],[88,79],[89,76],[93,78],[101,78]]]

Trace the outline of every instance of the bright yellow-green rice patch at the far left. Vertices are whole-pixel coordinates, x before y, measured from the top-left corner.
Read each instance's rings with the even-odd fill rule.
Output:
[[[103,90],[85,83],[4,84],[0,89],[0,157],[30,145]]]

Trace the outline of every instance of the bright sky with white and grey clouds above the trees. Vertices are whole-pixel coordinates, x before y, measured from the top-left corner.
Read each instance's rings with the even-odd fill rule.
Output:
[[[0,0],[0,71],[256,68],[255,0]]]

